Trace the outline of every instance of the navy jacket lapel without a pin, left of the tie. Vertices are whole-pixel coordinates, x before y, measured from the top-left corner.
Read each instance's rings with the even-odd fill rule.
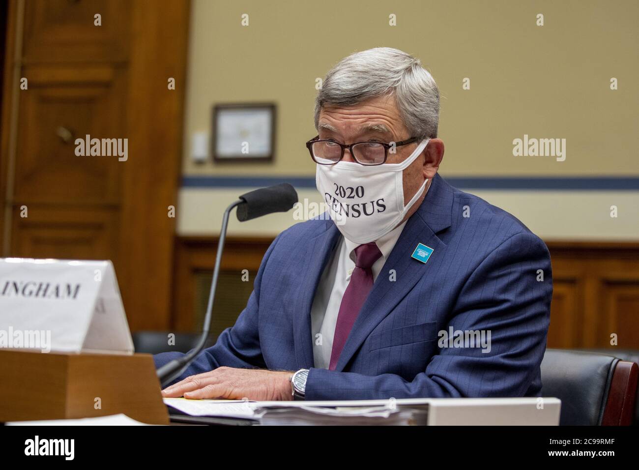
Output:
[[[307,266],[298,286],[300,295],[296,296],[293,306],[293,316],[295,317],[293,338],[295,341],[296,367],[311,368],[314,366],[311,307],[319,279],[332,256],[339,235],[337,226],[328,220],[327,230],[305,242],[306,250],[302,259],[305,260]]]

